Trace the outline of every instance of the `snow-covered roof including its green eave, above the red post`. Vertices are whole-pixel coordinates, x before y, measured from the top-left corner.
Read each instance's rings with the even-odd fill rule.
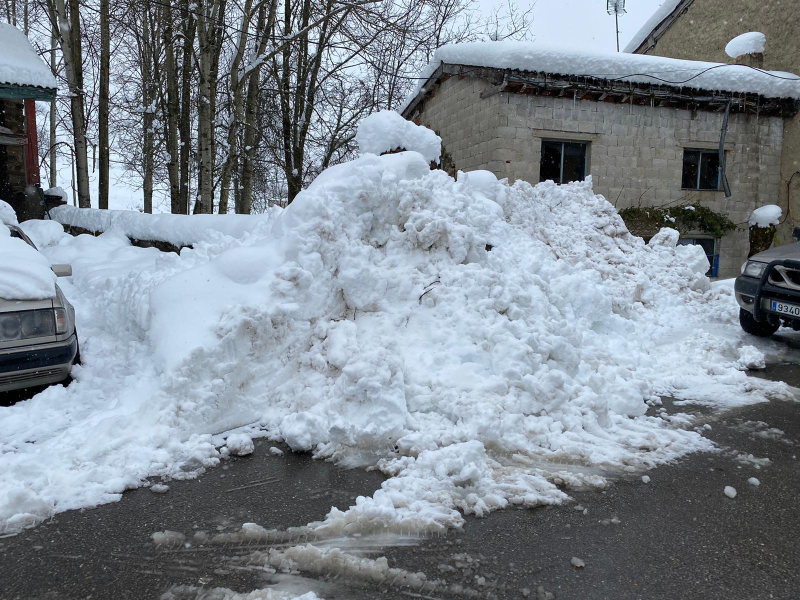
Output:
[[[22,31],[0,23],[0,98],[53,100],[58,84]]]

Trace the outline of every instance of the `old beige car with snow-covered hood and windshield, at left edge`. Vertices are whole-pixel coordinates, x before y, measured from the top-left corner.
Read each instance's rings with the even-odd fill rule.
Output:
[[[62,382],[79,362],[80,351],[75,310],[54,277],[70,277],[72,267],[50,266],[18,226],[0,224],[0,228],[10,233],[0,231],[9,246],[2,253],[7,261],[0,274],[0,392]],[[13,238],[35,254],[22,244],[12,245]]]

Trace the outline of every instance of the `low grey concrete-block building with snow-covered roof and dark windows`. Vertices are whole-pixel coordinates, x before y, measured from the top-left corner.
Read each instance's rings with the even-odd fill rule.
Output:
[[[709,70],[714,65],[526,42],[445,46],[437,60],[402,114],[442,137],[455,169],[528,182],[590,174],[619,210],[705,206],[738,229],[684,230],[684,241],[706,248],[714,274],[738,274],[750,212],[778,198],[785,121],[797,113],[800,82],[744,66]]]

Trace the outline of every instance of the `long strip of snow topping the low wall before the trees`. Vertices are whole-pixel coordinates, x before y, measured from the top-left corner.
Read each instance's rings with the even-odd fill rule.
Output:
[[[64,225],[102,233],[117,230],[131,239],[192,246],[219,239],[241,238],[266,222],[266,214],[148,214],[138,210],[99,210],[62,205],[50,217]]]

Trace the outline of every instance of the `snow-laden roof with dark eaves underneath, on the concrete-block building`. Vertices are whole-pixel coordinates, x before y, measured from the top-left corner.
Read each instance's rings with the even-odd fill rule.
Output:
[[[494,83],[482,97],[514,92],[693,110],[724,110],[730,102],[733,112],[783,117],[795,114],[800,106],[800,77],[783,71],[502,41],[439,48],[400,112],[408,118],[454,75]]]

